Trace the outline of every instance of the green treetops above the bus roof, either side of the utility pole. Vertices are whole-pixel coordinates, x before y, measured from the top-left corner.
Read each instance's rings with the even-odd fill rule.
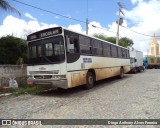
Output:
[[[107,36],[102,35],[102,34],[94,34],[94,36],[99,38],[99,39],[102,39],[102,40],[111,42],[113,44],[116,44],[116,37],[107,37]],[[129,39],[127,37],[123,37],[123,38],[119,39],[119,43],[118,44],[120,46],[123,46],[123,47],[128,47],[128,46],[132,46],[134,43],[133,43],[133,41],[131,39]]]

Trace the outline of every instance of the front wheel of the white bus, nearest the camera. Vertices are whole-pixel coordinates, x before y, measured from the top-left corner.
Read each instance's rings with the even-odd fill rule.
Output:
[[[86,85],[85,88],[86,89],[91,89],[94,86],[94,74],[92,72],[88,72],[87,76],[86,76]]]

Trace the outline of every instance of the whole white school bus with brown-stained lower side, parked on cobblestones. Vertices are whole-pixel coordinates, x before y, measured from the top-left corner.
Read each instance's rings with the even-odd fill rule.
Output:
[[[27,37],[27,83],[72,88],[130,71],[129,50],[62,27],[41,30]]]

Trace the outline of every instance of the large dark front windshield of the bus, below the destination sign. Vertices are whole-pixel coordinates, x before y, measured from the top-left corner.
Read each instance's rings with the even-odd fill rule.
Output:
[[[61,63],[65,59],[62,36],[29,42],[28,45],[29,65]]]

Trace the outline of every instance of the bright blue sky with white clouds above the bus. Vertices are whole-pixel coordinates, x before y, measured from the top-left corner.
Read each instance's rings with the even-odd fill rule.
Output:
[[[89,35],[102,33],[106,36],[116,36],[118,18],[117,0],[19,0],[27,4],[58,13],[54,15],[12,0],[8,2],[21,12],[16,14],[4,12],[0,14],[0,37],[12,34],[26,38],[26,35],[44,28],[63,26],[85,33],[85,19],[89,19]],[[88,4],[87,4],[88,1]],[[160,0],[123,0],[123,26],[130,30],[153,36],[160,42]],[[88,5],[88,6],[87,6]],[[80,21],[71,20],[74,18]],[[82,21],[82,22],[81,22]],[[94,28],[95,25],[100,28]],[[149,50],[152,37],[137,34],[120,27],[120,37],[128,37],[134,41],[134,48],[143,52]]]

